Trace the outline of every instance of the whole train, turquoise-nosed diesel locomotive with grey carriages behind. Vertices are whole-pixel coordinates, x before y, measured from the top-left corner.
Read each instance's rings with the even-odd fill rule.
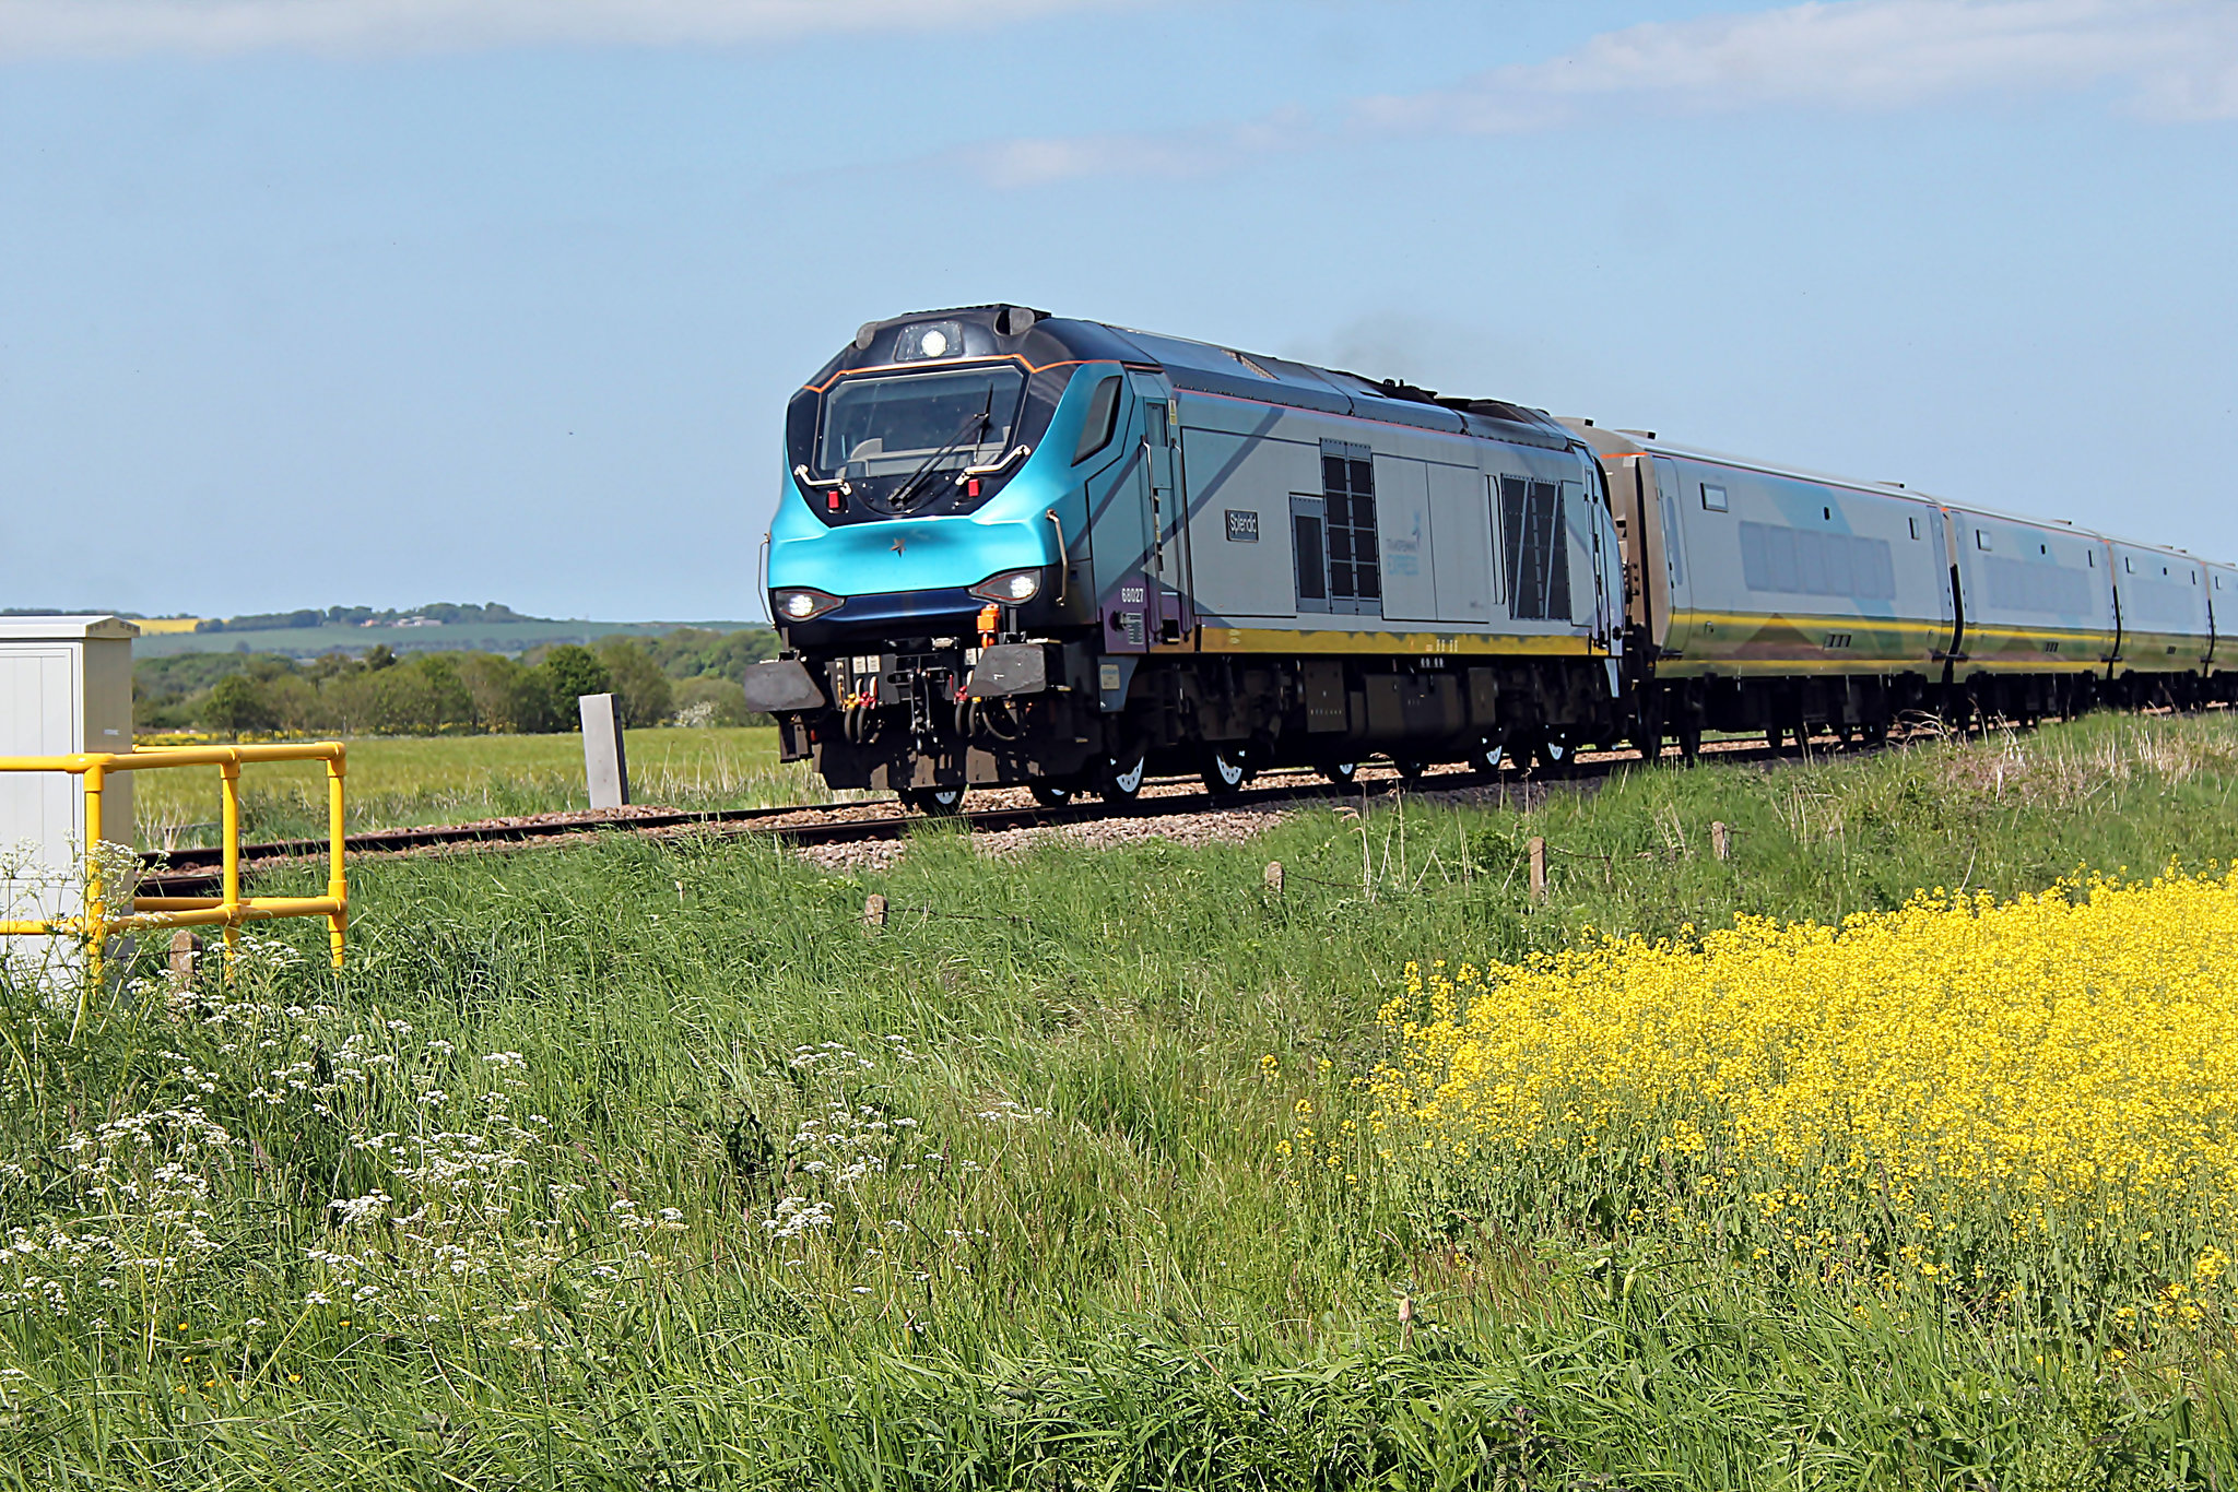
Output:
[[[929,812],[2238,682],[2231,566],[1027,306],[864,324],[763,564],[747,702]]]

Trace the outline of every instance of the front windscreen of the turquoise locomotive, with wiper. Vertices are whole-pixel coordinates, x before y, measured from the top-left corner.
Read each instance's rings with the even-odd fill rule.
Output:
[[[833,476],[906,476],[982,465],[1009,452],[1025,374],[1003,362],[947,374],[841,378],[824,398],[817,465]]]

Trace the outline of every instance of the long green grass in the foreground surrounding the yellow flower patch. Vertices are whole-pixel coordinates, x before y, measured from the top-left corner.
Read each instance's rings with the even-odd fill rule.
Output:
[[[1385,1161],[1372,1092],[1410,960],[2204,863],[2234,785],[2238,723],[2090,720],[1247,848],[367,866],[340,982],[9,1011],[0,1485],[2238,1485],[2187,1203],[2133,1221],[2198,1318],[2059,1237],[1891,1284],[1636,1154]]]

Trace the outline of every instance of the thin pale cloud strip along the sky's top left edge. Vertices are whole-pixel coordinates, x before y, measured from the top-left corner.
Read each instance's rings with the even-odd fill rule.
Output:
[[[0,58],[732,45],[985,27],[1115,0],[0,0]]]

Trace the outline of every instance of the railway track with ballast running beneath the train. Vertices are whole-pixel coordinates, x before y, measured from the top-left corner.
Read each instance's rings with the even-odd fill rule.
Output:
[[[1817,745],[1813,745],[1817,749]],[[1828,752],[1860,749],[1844,747],[1840,743],[1828,743]],[[1775,754],[1759,740],[1721,740],[1705,743],[1703,754],[1717,754],[1723,761],[1775,761]],[[1562,772],[1564,781],[1591,781],[1607,776],[1611,769],[1638,763],[1640,754],[1632,749],[1620,752],[1582,752]],[[1329,799],[1356,796],[1363,790],[1372,794],[1390,792],[1401,785],[1397,769],[1388,765],[1361,767],[1352,785],[1338,787],[1320,778],[1318,772],[1303,767],[1276,767],[1262,772],[1251,785],[1240,792],[1229,792],[1213,796],[1204,787],[1195,785],[1195,778],[1157,778],[1144,783],[1141,796],[1132,803],[1110,805],[1101,799],[1083,799],[1065,803],[1061,808],[1043,808],[1038,803],[991,803],[985,808],[971,808],[969,799],[965,810],[949,819],[951,823],[965,825],[974,832],[1000,832],[1000,830],[1023,830],[1023,828],[1056,828],[1068,823],[1090,823],[1110,816],[1132,816],[1132,819],[1157,819],[1164,814],[1202,814],[1222,812],[1231,808],[1253,808],[1269,803],[1314,803]],[[1513,769],[1482,772],[1482,769],[1439,769],[1408,785],[1410,792],[1452,792],[1486,787],[1491,783],[1513,783],[1522,785],[1524,778]],[[1005,790],[1005,799],[1023,799],[1023,792]],[[474,850],[510,850],[510,848],[533,848],[533,846],[557,846],[568,841],[589,839],[595,834],[765,834],[781,843],[792,846],[841,846],[862,843],[875,839],[900,839],[909,834],[911,828],[920,823],[940,823],[940,819],[927,819],[924,814],[909,812],[897,803],[875,801],[875,803],[810,803],[797,808],[732,808],[712,812],[685,812],[685,810],[613,810],[613,812],[571,812],[551,814],[533,819],[499,819],[488,823],[454,823],[454,825],[427,825],[427,828],[403,828],[403,830],[367,830],[363,834],[351,834],[345,841],[345,850],[351,857],[389,857],[389,854],[425,854],[425,852],[474,852]],[[266,843],[242,846],[242,872],[269,870],[286,863],[309,863],[320,861],[327,854],[325,839],[280,839]],[[215,848],[188,848],[170,850],[161,863],[141,877],[141,890],[145,895],[163,897],[190,897],[190,895],[213,895],[219,884],[219,850]]]

